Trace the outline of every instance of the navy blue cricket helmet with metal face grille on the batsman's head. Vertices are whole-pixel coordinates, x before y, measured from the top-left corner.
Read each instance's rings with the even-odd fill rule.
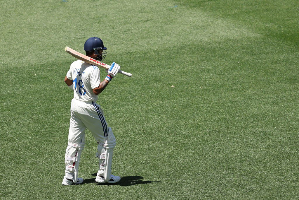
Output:
[[[98,37],[89,37],[84,43],[85,51],[94,51],[94,55],[98,58],[98,60],[103,61],[106,57],[107,48],[104,46],[103,41]],[[98,51],[99,50],[99,51]]]

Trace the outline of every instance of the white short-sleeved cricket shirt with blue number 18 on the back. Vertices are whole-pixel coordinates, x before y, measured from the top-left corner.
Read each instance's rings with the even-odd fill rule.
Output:
[[[74,61],[66,77],[73,80],[74,98],[81,101],[96,101],[93,88],[100,85],[100,69],[81,60]]]

